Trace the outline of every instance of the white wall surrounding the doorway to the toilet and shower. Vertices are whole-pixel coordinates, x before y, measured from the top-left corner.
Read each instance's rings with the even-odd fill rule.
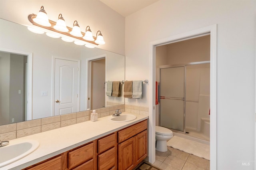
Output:
[[[255,16],[256,1],[160,0],[126,17],[128,80],[149,78],[150,42],[217,24],[218,170],[254,169]],[[130,102],[149,106],[145,90]]]

